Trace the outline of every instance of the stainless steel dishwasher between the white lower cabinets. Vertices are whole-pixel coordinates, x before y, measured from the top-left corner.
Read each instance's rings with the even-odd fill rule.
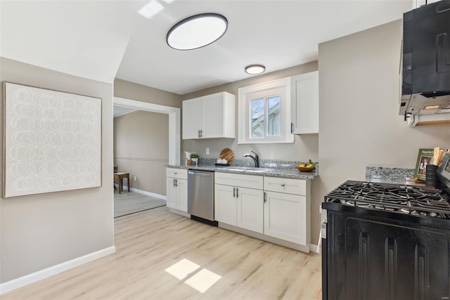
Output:
[[[217,226],[214,221],[214,171],[188,170],[188,214],[195,221]]]

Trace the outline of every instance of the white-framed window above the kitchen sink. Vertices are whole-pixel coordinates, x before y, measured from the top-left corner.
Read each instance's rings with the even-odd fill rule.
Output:
[[[238,143],[293,143],[290,78],[238,90]]]

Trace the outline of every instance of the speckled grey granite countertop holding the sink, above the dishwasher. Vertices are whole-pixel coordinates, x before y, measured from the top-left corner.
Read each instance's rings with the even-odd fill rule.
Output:
[[[204,171],[216,171],[224,173],[234,174],[248,174],[248,175],[260,175],[271,176],[281,178],[293,178],[293,179],[314,179],[319,176],[319,166],[316,165],[316,169],[311,172],[300,172],[295,167],[242,167],[242,166],[216,166],[214,164],[198,164],[198,166],[181,166],[181,165],[167,165],[169,168],[176,169],[192,169],[192,170],[204,170]],[[263,171],[264,170],[264,171]]]

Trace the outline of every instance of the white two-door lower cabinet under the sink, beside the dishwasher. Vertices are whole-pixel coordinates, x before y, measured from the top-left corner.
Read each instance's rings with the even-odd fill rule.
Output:
[[[216,172],[215,183],[214,216],[216,221],[263,233],[262,176]]]

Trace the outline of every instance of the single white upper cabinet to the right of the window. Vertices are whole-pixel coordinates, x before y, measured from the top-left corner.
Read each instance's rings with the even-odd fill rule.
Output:
[[[319,133],[319,71],[291,77],[291,131]]]

